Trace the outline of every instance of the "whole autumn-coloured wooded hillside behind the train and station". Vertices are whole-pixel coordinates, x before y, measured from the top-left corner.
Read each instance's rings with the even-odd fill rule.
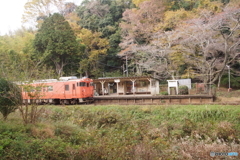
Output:
[[[0,77],[11,81],[127,69],[224,85],[230,71],[240,87],[239,0],[30,0],[22,21],[0,36]]]

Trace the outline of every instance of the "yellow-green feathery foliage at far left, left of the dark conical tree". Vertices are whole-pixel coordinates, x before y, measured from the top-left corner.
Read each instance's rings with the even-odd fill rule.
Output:
[[[52,70],[33,54],[33,39],[34,32],[24,28],[0,37],[0,77],[11,81],[52,78]]]

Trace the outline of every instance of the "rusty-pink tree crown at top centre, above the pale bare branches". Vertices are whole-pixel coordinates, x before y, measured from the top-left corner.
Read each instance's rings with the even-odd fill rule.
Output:
[[[163,20],[164,5],[162,1],[151,0],[140,4],[139,9],[127,9],[123,13],[121,48],[132,44],[148,44],[157,31],[157,25]]]

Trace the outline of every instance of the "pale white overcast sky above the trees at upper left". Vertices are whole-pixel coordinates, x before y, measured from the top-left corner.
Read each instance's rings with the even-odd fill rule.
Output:
[[[0,0],[0,35],[21,28],[24,5],[28,0]],[[81,0],[67,0],[80,5]]]

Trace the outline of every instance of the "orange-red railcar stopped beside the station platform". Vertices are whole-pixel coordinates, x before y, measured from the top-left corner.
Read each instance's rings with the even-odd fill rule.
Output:
[[[24,104],[81,104],[93,102],[93,80],[75,76],[21,84]]]

